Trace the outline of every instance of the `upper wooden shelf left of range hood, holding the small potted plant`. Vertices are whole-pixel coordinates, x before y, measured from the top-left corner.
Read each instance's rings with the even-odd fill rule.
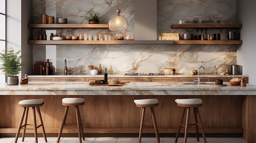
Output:
[[[108,29],[108,24],[28,24],[27,27],[44,29]]]

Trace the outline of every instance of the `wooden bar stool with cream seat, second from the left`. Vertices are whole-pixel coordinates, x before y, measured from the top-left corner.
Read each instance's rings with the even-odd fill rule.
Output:
[[[61,124],[61,130],[58,134],[57,143],[59,143],[60,139],[61,139],[61,133],[62,133],[63,127],[66,123],[67,111],[68,111],[69,106],[75,106],[76,107],[76,122],[77,122],[77,127],[78,127],[79,143],[82,143],[81,135],[83,137],[83,140],[85,140],[84,134],[83,134],[83,125],[82,125],[82,122],[81,122],[81,116],[80,116],[80,112],[79,112],[79,106],[84,105],[84,103],[85,103],[85,100],[83,98],[63,98],[62,99],[62,105],[66,106],[66,109],[65,109],[64,118],[63,118],[63,121],[62,121],[62,124]]]

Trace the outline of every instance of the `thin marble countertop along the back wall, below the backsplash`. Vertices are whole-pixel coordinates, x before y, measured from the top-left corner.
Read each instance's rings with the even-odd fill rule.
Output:
[[[249,77],[247,75],[200,75],[200,77]],[[28,77],[104,77],[104,75],[29,75]],[[110,75],[108,77],[198,77],[198,75]]]

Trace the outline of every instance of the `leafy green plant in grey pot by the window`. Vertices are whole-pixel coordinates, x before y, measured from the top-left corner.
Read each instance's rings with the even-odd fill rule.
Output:
[[[0,70],[4,75],[7,75],[7,85],[18,85],[19,77],[16,76],[20,73],[22,62],[20,54],[21,51],[15,52],[12,47],[7,48],[7,50],[2,50],[0,53]]]

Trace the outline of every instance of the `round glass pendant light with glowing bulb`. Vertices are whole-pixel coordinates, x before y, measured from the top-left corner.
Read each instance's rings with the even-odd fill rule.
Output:
[[[119,10],[119,0],[117,0],[116,12],[117,12],[116,15],[110,18],[110,20],[108,21],[108,28],[111,31],[126,31],[128,27],[128,22],[124,18],[124,16],[120,14],[121,11]]]

